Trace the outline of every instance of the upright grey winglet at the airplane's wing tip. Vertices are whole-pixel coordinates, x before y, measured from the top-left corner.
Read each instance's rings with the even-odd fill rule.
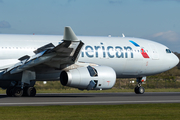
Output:
[[[63,40],[79,41],[78,38],[76,37],[75,33],[71,29],[71,27],[65,27],[64,28],[64,38],[63,38]]]

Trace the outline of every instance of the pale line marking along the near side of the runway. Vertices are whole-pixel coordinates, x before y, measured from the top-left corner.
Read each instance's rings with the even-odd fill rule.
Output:
[[[27,103],[0,103],[0,105],[70,105],[70,104],[121,104],[121,103],[177,103],[180,100],[159,101],[89,101],[89,102],[27,102]]]

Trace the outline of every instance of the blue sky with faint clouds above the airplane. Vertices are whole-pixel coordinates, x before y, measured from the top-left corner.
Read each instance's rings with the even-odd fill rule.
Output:
[[[0,0],[0,34],[150,39],[180,53],[180,0]]]

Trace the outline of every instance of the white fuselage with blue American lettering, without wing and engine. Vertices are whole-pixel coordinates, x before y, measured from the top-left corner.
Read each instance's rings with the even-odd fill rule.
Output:
[[[24,55],[34,55],[34,50],[48,43],[56,46],[62,39],[63,36],[57,35],[0,35],[0,69],[19,62],[18,58]],[[166,46],[145,39],[89,36],[78,39],[84,42],[79,62],[109,66],[117,77],[157,74],[179,62],[173,53],[167,52]]]

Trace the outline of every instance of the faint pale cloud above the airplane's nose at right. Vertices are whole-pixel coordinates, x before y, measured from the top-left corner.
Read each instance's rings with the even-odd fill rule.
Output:
[[[179,41],[180,40],[180,34],[174,32],[174,31],[167,31],[167,32],[159,32],[154,35],[152,35],[152,38],[157,39],[158,41]]]

